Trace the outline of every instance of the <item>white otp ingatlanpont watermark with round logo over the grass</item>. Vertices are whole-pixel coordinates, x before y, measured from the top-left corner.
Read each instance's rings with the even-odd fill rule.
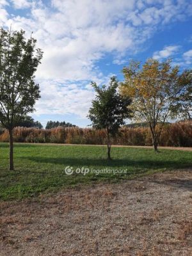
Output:
[[[82,174],[82,175],[86,175],[88,173],[90,174],[95,174],[95,175],[99,175],[99,174],[112,174],[112,175],[116,175],[116,174],[125,174],[127,173],[127,169],[94,169],[94,168],[85,168],[84,166],[82,166],[81,168],[76,168],[74,169],[72,166],[67,166],[65,167],[65,174],[66,175],[72,175],[73,173],[76,174]]]

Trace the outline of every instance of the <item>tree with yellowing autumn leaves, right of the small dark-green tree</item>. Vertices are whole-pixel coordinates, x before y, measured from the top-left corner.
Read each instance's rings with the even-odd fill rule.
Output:
[[[131,97],[134,119],[148,123],[157,152],[164,123],[191,115],[191,70],[179,72],[171,60],[149,59],[142,68],[140,62],[132,61],[123,73],[120,92]]]

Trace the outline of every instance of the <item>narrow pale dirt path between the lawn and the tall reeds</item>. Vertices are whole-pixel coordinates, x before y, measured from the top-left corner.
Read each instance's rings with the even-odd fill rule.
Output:
[[[54,145],[54,146],[92,146],[106,147],[106,145],[88,145],[88,144],[59,144],[59,143],[15,143],[15,144],[34,144],[34,145]],[[112,145],[112,147],[127,147],[127,148],[153,148],[152,146],[127,146],[127,145]],[[192,147],[158,147],[159,149],[185,150],[192,151]]]

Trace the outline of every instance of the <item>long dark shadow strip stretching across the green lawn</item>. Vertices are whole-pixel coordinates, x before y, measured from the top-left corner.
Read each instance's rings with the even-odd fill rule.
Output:
[[[184,169],[190,168],[191,164],[186,161],[173,161],[173,160],[156,160],[152,161],[150,159],[143,160],[132,160],[132,159],[113,159],[112,161],[108,161],[106,159],[76,159],[76,158],[54,158],[54,157],[22,157],[22,159],[28,159],[29,161],[33,161],[39,164],[63,164],[63,166],[77,166],[81,167],[110,167],[110,168],[147,168],[147,169]]]

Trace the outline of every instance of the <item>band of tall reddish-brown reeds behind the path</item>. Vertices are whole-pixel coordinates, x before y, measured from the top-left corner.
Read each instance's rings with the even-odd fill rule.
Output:
[[[8,131],[5,130],[0,134],[0,141],[8,141]],[[53,129],[16,127],[14,129],[14,141],[104,145],[106,144],[106,131],[79,127]],[[122,127],[112,143],[114,145],[152,145],[152,138],[148,127]],[[159,145],[192,147],[192,122],[166,124]]]

